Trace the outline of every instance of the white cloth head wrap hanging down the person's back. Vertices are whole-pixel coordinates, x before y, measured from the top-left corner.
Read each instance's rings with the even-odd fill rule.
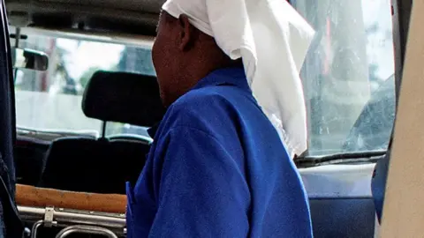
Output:
[[[307,112],[299,71],[314,30],[285,0],[168,0],[232,59],[242,58],[254,97],[290,155],[307,150]]]

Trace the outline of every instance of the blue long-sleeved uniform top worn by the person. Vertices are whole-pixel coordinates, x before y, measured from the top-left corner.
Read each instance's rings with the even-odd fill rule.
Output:
[[[128,237],[312,237],[306,191],[243,69],[214,71],[168,108]]]

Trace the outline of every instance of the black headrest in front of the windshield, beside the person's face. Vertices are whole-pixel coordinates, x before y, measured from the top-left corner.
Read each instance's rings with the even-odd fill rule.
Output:
[[[156,78],[127,72],[96,71],[82,99],[87,117],[151,127],[165,109]]]

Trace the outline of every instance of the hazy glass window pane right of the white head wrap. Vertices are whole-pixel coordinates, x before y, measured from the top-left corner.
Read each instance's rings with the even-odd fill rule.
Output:
[[[385,150],[395,115],[390,0],[296,0],[314,27],[301,71],[309,155]]]

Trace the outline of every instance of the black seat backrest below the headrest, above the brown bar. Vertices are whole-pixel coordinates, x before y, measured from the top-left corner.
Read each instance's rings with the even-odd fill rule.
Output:
[[[49,149],[41,186],[95,193],[125,193],[137,180],[148,145],[135,141],[60,138]]]

